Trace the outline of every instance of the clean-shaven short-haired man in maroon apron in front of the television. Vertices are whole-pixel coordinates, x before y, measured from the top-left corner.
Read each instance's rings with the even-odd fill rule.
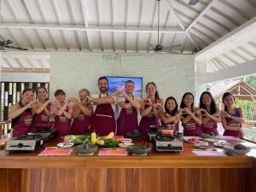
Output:
[[[117,119],[117,135],[125,136],[127,132],[138,130],[137,109],[141,108],[139,100],[132,95],[134,82],[125,82],[125,92],[121,91],[118,98],[119,118]]]

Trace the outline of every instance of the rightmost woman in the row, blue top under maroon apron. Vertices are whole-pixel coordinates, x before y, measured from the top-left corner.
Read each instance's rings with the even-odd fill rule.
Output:
[[[241,124],[245,122],[241,108],[236,108],[235,96],[225,92],[222,96],[224,110],[221,111],[221,122],[224,127],[224,136],[243,137]]]

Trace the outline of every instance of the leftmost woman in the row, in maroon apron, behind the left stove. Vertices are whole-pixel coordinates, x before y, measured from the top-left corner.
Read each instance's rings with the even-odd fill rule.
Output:
[[[20,102],[13,105],[9,111],[9,119],[12,119],[13,137],[20,137],[32,130],[34,109],[38,107],[38,101],[33,100],[34,90],[23,90]]]

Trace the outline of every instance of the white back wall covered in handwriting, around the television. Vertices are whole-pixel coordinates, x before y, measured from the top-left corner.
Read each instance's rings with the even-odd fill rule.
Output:
[[[195,91],[194,55],[107,54],[55,52],[50,57],[50,95],[63,89],[76,96],[82,88],[98,93],[100,76],[143,77],[143,89],[154,81],[160,97],[175,96],[178,103],[186,91]]]

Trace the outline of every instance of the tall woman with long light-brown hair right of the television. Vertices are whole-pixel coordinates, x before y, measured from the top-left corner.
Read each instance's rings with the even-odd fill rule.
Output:
[[[160,125],[159,113],[163,106],[163,100],[160,99],[156,85],[149,82],[146,85],[148,99],[142,102],[140,109],[142,119],[139,124],[139,131],[146,136],[150,125]]]

